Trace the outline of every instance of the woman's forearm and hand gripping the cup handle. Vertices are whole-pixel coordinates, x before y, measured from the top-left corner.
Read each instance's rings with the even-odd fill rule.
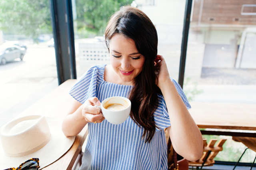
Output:
[[[100,108],[94,107],[95,105],[100,105],[98,98],[90,98],[84,104],[74,100],[62,122],[62,131],[66,137],[80,133],[88,122],[101,123],[105,119]]]

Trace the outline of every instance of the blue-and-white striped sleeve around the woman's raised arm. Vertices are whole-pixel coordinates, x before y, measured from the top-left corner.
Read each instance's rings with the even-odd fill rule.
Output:
[[[174,83],[174,86],[176,87],[176,90],[180,94],[180,97],[182,98],[184,104],[186,105],[187,109],[190,109],[191,106],[182,90],[180,87],[180,84],[178,84],[174,79],[172,79],[172,82]],[[165,129],[171,125],[170,123],[170,117],[167,111],[166,103],[164,100],[164,96],[158,95],[158,108],[154,112],[154,120],[156,123],[156,131]]]

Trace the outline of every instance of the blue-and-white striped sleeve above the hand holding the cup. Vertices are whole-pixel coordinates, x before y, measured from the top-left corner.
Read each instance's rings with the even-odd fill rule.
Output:
[[[69,94],[81,104],[89,98],[96,97],[98,72],[97,66],[92,66],[70,89]]]

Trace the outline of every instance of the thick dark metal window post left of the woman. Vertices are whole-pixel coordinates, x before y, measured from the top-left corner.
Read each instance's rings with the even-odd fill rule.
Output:
[[[71,0],[49,0],[58,83],[76,78]]]

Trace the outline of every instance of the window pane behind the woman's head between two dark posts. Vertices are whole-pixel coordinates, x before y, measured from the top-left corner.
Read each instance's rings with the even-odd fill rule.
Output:
[[[110,64],[104,42],[106,23],[120,6],[132,4],[148,15],[156,26],[158,54],[166,59],[170,76],[178,80],[185,1],[76,0],[72,3],[78,78],[95,64]]]

